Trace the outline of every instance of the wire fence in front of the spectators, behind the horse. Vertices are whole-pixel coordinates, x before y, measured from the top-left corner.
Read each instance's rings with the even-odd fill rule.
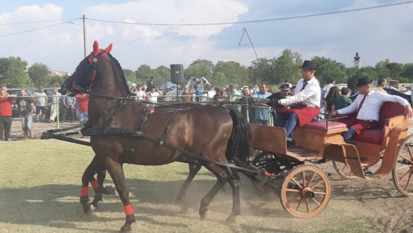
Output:
[[[215,102],[222,106],[235,107],[242,112],[250,123],[262,123],[261,120],[268,120],[267,124],[273,125],[271,109],[262,105],[253,104],[252,99],[248,100],[248,98],[242,98],[239,102],[217,102],[206,96],[178,96],[179,101],[176,101],[177,96],[158,96],[157,102],[187,102],[182,100],[197,102],[195,101],[196,97],[198,97],[200,104],[211,104],[211,102]],[[80,124],[81,113],[78,111],[79,101],[76,100],[76,98],[72,99],[73,102],[70,102],[71,100],[67,98],[67,96],[47,96],[47,102],[45,101],[45,106],[43,107],[35,106],[36,98],[39,97],[24,96],[12,99],[12,118],[10,136],[8,136],[10,140],[21,140],[24,138],[25,131],[23,131],[22,122],[27,119],[21,117],[21,111],[24,113],[24,108],[30,109],[28,105],[31,103],[33,104],[31,110],[31,129],[34,138],[40,138],[41,133],[49,129],[59,129]],[[150,98],[151,97],[146,98],[145,100],[151,101]],[[132,97],[132,99],[138,100],[136,97]],[[24,100],[24,103],[22,100]],[[6,109],[1,109],[2,107],[5,108],[3,104],[0,104],[0,112],[6,111]],[[2,127],[0,126],[0,128]],[[6,133],[6,135],[8,135],[8,133]]]

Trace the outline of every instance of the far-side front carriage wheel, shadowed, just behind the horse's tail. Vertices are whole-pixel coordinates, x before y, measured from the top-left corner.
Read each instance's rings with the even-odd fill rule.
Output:
[[[271,172],[271,168],[268,164],[271,159],[274,159],[274,155],[266,151],[262,151],[262,153],[255,156],[252,164],[257,168],[261,168],[262,170],[266,169],[267,171],[270,170]],[[251,179],[251,182],[253,182],[253,186],[257,188],[258,191],[266,194],[275,194],[279,187],[278,179],[274,179],[273,177],[265,177],[264,175],[255,175],[255,177]]]

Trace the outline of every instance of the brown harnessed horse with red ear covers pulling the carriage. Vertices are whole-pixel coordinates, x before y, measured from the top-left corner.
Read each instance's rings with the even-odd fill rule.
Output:
[[[83,129],[90,135],[95,152],[82,177],[81,203],[85,213],[89,206],[88,184],[96,193],[103,193],[94,175],[107,169],[125,208],[126,221],[121,231],[131,230],[135,221],[125,184],[123,164],[162,165],[192,157],[211,171],[217,182],[200,203],[200,218],[204,219],[216,193],[229,182],[233,192],[232,212],[227,221],[240,214],[239,176],[229,166],[246,163],[251,144],[251,131],[244,117],[235,109],[199,105],[189,109],[156,107],[147,102],[129,101],[129,89],[123,69],[106,49],[93,52],[76,68],[61,87],[67,91],[88,91],[89,121]],[[209,160],[210,159],[210,160]],[[215,161],[215,162],[212,162]],[[218,163],[217,163],[218,162]]]

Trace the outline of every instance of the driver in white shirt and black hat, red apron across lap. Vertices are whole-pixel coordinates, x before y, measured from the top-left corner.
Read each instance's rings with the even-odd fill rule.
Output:
[[[311,122],[320,111],[321,91],[315,78],[316,64],[312,60],[304,60],[301,68],[301,78],[297,83],[297,93],[294,96],[277,100],[278,104],[286,109],[275,109],[277,125],[286,129],[286,136],[290,137],[295,126],[303,126]]]

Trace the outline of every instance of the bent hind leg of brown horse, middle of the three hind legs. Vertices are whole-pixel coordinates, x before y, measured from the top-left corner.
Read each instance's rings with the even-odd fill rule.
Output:
[[[217,166],[215,164],[205,164],[205,168],[211,171],[216,177],[217,182],[215,185],[209,190],[207,195],[202,198],[201,205],[200,205],[200,218],[204,220],[209,209],[209,204],[211,203],[213,197],[217,194],[217,192],[229,181],[229,173],[224,168]],[[231,186],[232,187],[232,186]],[[239,191],[239,189],[238,189]]]

